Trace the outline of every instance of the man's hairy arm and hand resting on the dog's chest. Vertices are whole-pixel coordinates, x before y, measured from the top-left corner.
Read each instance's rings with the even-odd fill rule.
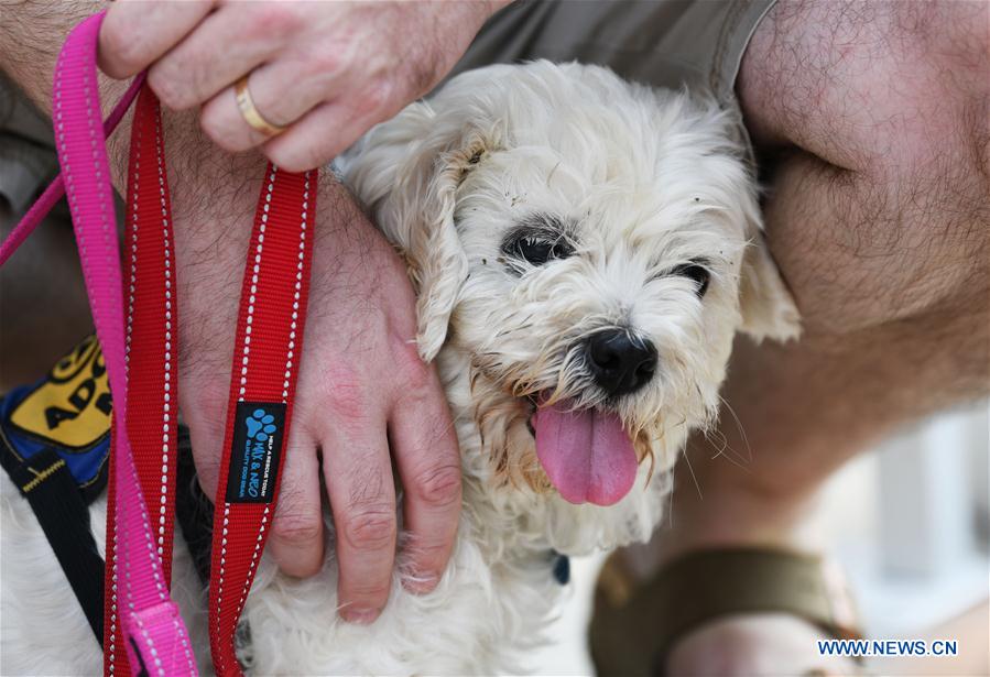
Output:
[[[45,112],[57,51],[96,1],[0,0],[0,68]],[[123,84],[101,80],[105,110]],[[230,155],[195,111],[164,116],[181,317],[179,402],[196,467],[213,495],[221,458],[230,360],[250,223],[264,159]],[[126,182],[129,117],[110,144]],[[418,590],[449,556],[460,481],[449,412],[420,362],[413,294],[401,262],[346,190],[320,179],[309,320],[272,545],[280,565],[311,575],[323,559],[320,470],[334,509],[345,618],[370,622],[388,597],[396,538],[390,445],[405,487]],[[322,454],[318,454],[318,451]]]

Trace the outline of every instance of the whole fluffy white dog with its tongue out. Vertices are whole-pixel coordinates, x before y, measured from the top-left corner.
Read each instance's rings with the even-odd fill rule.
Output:
[[[736,122],[605,68],[492,66],[373,129],[340,166],[418,292],[420,350],[463,455],[460,529],[436,590],[410,593],[396,574],[370,626],[337,619],[333,552],[308,580],[264,558],[241,658],[258,675],[524,670],[563,591],[555,552],[645,540],[688,433],[718,411],[737,330],[798,332]],[[3,494],[7,669],[99,671],[26,502],[6,478]],[[205,658],[181,543],[175,577]]]

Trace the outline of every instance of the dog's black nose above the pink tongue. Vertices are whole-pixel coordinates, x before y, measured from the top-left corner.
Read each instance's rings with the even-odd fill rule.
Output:
[[[610,395],[641,389],[656,371],[656,348],[625,329],[607,329],[588,339],[588,365],[595,382]]]

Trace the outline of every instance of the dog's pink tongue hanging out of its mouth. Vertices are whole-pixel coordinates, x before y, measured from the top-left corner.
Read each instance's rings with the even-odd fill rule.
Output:
[[[635,449],[622,422],[569,402],[541,406],[533,415],[536,456],[564,499],[611,505],[635,481]]]

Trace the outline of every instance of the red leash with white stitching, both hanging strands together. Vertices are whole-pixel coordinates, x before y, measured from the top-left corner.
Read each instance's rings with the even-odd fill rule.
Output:
[[[235,632],[278,500],[309,287],[313,178],[315,173],[290,174],[269,165],[248,247],[210,560],[210,649],[221,676],[241,674]],[[178,343],[171,221],[161,112],[144,87],[134,110],[128,183],[128,433],[166,578],[174,523]],[[111,523],[108,563],[115,561],[113,535]],[[107,571],[106,673],[112,674],[124,644],[116,618],[116,567]]]

